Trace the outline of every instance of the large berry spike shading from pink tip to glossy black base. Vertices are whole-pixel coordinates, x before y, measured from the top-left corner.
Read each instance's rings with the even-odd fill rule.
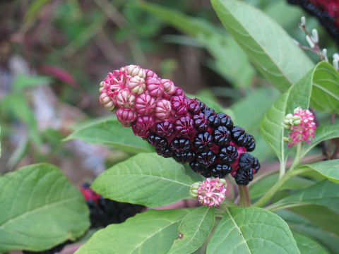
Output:
[[[258,171],[258,159],[248,153],[256,146],[254,137],[234,126],[227,114],[186,97],[171,80],[130,65],[109,73],[100,86],[102,106],[159,155],[189,163],[205,177],[231,173],[240,185]]]

